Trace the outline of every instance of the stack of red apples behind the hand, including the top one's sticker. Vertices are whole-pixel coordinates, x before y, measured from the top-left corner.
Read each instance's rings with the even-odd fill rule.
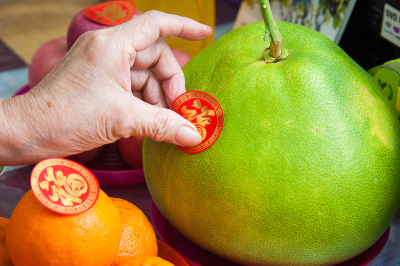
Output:
[[[91,16],[90,14],[93,13],[101,16]],[[28,68],[28,87],[32,88],[38,84],[61,60],[82,33],[123,23],[140,13],[129,0],[106,1],[83,8],[70,21],[66,36],[49,40],[36,50]],[[110,19],[107,20],[107,17]],[[171,50],[180,66],[183,66],[191,57],[181,50],[174,48],[171,48]],[[117,141],[118,150],[123,159],[135,169],[142,168],[141,145],[142,141],[134,137],[122,138]],[[94,159],[102,149],[103,147],[94,148],[68,158],[79,163],[87,163]]]

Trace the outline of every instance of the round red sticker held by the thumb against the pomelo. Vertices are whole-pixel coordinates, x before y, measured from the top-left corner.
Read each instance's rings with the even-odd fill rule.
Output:
[[[177,97],[171,110],[192,122],[202,137],[194,147],[177,146],[187,153],[197,153],[209,148],[218,138],[223,126],[223,112],[219,102],[210,94],[190,90]]]

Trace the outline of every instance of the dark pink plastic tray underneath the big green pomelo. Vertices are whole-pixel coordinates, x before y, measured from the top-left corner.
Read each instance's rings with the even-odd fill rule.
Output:
[[[165,219],[152,200],[150,205],[150,216],[154,229],[161,237],[162,241],[174,248],[190,266],[239,266],[239,264],[216,256],[190,242],[172,227],[172,225]],[[383,235],[365,252],[336,266],[368,265],[383,249],[389,237],[389,232],[390,227],[387,228]]]

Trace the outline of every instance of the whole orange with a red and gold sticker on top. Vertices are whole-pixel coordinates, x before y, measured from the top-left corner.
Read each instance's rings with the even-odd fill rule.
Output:
[[[109,266],[121,230],[119,212],[102,190],[90,209],[75,215],[47,209],[29,190],[11,214],[5,240],[14,266]]]

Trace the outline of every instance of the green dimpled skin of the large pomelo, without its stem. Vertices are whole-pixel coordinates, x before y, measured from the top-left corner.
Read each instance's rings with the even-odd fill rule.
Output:
[[[210,252],[244,265],[331,265],[371,246],[394,217],[400,124],[334,42],[276,24],[290,51],[281,61],[260,60],[260,21],[186,63],[187,90],[221,104],[222,132],[196,154],[144,139],[144,174],[161,213]]]

